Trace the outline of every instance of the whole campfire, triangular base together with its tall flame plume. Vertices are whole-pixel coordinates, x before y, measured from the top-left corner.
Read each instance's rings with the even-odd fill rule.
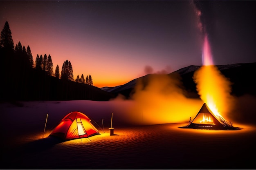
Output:
[[[202,53],[203,66],[195,71],[193,79],[197,91],[204,104],[198,114],[187,126],[181,128],[238,130],[231,122],[226,121],[220,113],[227,113],[233,103],[231,101],[231,82],[221,74],[213,64],[211,49],[207,35],[204,36]],[[207,106],[207,104],[209,104]]]

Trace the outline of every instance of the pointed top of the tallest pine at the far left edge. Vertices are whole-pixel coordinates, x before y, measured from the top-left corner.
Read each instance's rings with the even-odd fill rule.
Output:
[[[1,31],[0,47],[7,51],[13,51],[14,49],[14,43],[11,36],[11,29],[7,21],[5,22],[4,28]]]

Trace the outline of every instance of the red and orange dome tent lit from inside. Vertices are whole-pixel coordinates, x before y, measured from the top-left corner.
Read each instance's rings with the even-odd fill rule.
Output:
[[[90,118],[81,112],[71,112],[61,120],[49,136],[71,140],[94,135],[99,135],[99,131],[92,125]]]

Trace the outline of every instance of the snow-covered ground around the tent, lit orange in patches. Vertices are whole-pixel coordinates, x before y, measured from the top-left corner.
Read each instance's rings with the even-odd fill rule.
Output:
[[[254,157],[251,156],[255,152],[256,141],[256,124],[252,124],[251,120],[255,120],[255,101],[255,97],[251,96],[240,98],[240,115],[235,113],[234,126],[242,130],[181,129],[179,127],[187,124],[186,117],[191,113],[174,122],[171,118],[178,119],[174,116],[166,117],[159,112],[155,113],[155,117],[170,120],[156,118],[152,121],[151,115],[147,117],[148,110],[142,111],[134,101],[128,100],[4,102],[0,104],[1,167],[255,169]],[[195,105],[195,108],[200,108],[201,103]],[[245,114],[249,117],[242,115],[243,110],[251,112]],[[84,113],[96,121],[94,126],[100,135],[71,141],[48,137],[58,121],[72,111]],[[110,136],[108,129],[111,113],[115,128],[113,136]],[[250,124],[246,124],[245,120]]]

